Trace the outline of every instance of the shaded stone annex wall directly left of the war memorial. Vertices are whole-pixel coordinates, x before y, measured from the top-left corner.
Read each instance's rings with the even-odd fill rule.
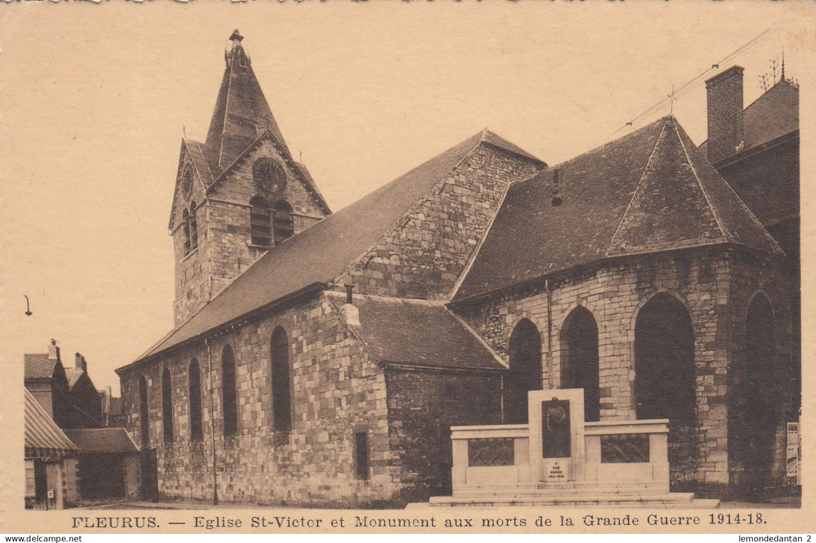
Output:
[[[386,370],[391,458],[400,469],[402,502],[450,496],[450,426],[499,424],[501,379],[499,372]]]

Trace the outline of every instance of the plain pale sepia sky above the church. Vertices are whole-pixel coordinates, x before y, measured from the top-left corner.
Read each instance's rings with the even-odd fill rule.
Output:
[[[206,139],[233,29],[283,136],[338,210],[490,128],[551,165],[721,69],[813,74],[806,2],[17,2],[0,10],[2,364],[57,340],[97,388],[173,323],[180,140]],[[777,76],[778,77],[778,76]],[[810,85],[809,88],[814,88]],[[695,143],[705,86],[674,103]],[[803,122],[807,122],[803,119]],[[31,302],[26,316],[24,296]]]

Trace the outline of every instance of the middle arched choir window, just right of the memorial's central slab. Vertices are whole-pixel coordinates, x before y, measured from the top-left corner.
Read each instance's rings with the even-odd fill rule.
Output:
[[[561,328],[561,388],[583,389],[583,420],[601,420],[598,325],[588,309],[576,307]]]

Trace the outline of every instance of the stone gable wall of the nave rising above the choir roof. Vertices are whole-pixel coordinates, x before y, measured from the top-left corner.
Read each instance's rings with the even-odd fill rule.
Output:
[[[509,185],[542,167],[480,145],[335,283],[361,294],[450,299]]]

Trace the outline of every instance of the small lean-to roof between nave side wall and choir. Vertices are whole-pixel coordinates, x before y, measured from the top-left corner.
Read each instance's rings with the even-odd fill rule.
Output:
[[[340,307],[341,292],[326,292]],[[506,369],[499,357],[444,305],[427,300],[353,296],[360,326],[351,327],[375,361],[452,369]]]

